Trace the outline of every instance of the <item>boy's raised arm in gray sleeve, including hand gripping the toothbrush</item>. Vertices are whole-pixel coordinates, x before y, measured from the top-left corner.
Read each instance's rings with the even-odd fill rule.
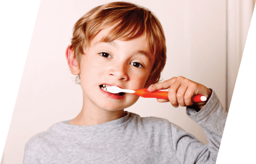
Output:
[[[200,125],[209,143],[205,145],[193,135],[185,132],[175,124],[171,124],[170,142],[173,145],[173,150],[180,164],[213,164],[217,159],[227,113],[223,109],[214,91],[189,80],[182,81],[183,77],[179,78],[179,81],[176,81],[177,79],[178,78],[172,78],[166,82],[158,83],[153,86],[153,90],[155,87],[155,89],[167,89],[168,86],[171,88],[173,85],[173,88],[169,89],[169,92],[174,92],[175,94],[168,95],[169,101],[173,106],[187,106],[187,115]],[[210,90],[210,92],[208,90]],[[180,98],[177,96],[178,94],[183,96]],[[190,97],[190,99],[194,94],[202,94],[206,96],[208,100],[204,104],[194,104],[191,100],[185,100],[185,94],[187,94],[187,97]],[[173,95],[175,97],[172,97]],[[182,99],[183,101],[181,101]],[[157,101],[167,102],[162,99]]]

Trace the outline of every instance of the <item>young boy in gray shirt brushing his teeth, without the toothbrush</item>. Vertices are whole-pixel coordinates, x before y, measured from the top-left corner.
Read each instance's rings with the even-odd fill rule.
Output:
[[[212,164],[217,159],[227,113],[215,92],[184,77],[157,83],[166,62],[165,36],[149,11],[126,2],[90,10],[77,21],[66,58],[78,75],[83,106],[72,120],[56,123],[25,145],[24,164]],[[154,85],[155,84],[155,85]],[[209,140],[198,141],[166,119],[142,118],[124,111],[139,96],[112,94],[123,89],[168,89],[173,106],[188,116]],[[207,97],[193,103],[193,95]]]

